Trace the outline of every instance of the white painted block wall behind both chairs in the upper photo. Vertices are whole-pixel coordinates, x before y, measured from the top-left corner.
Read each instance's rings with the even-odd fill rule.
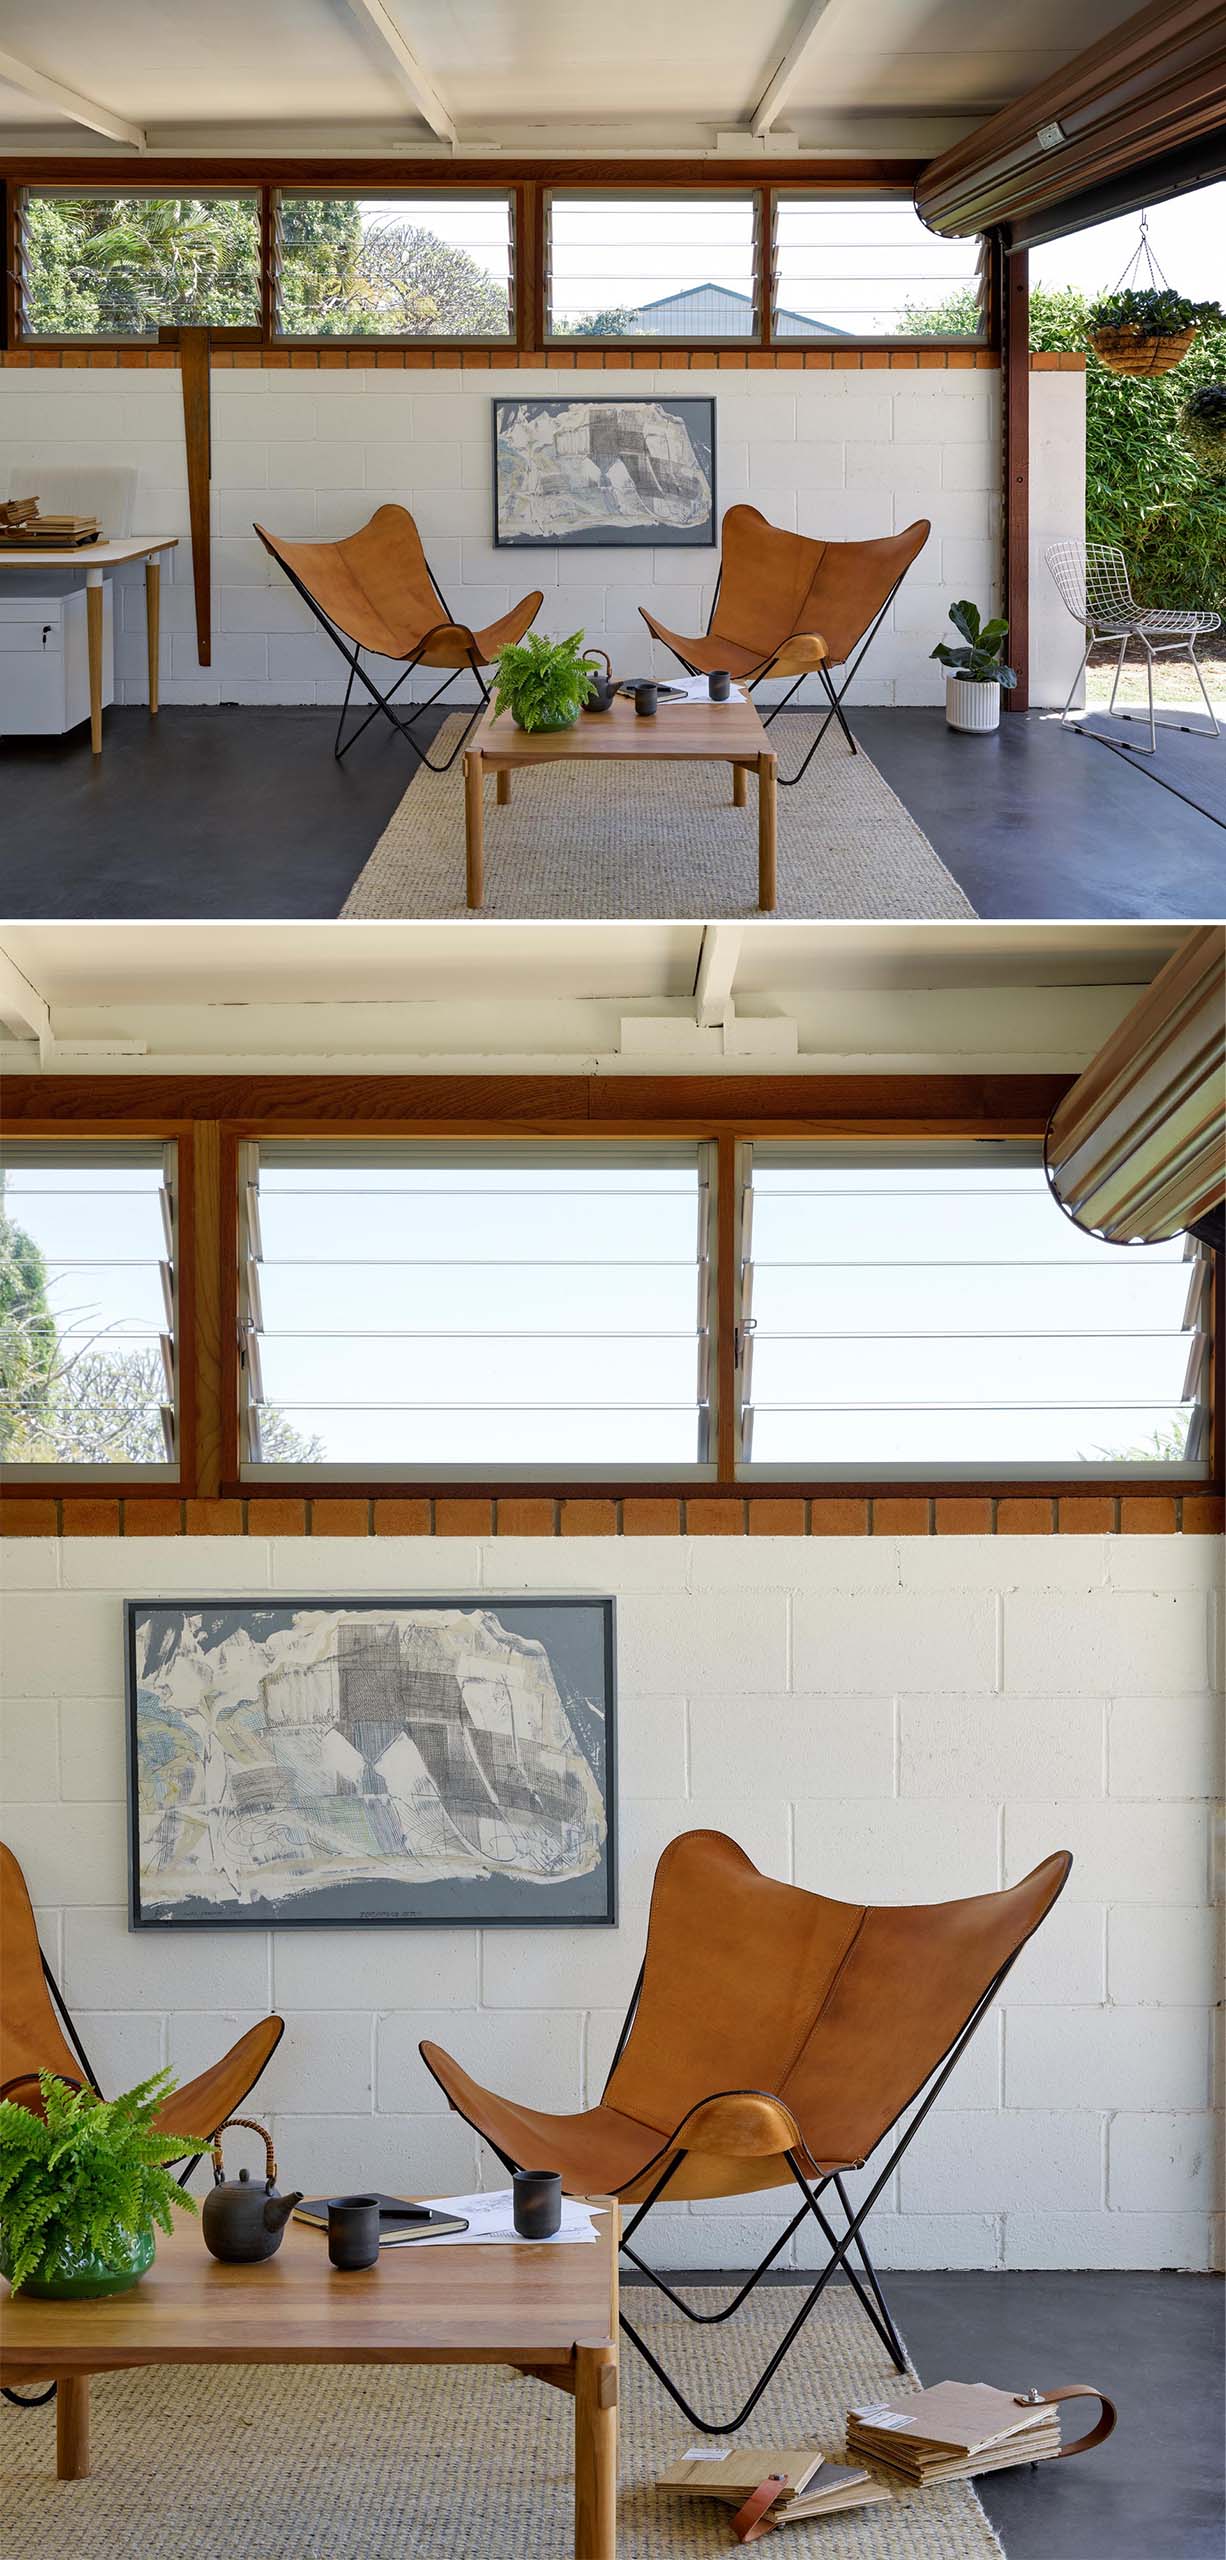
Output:
[[[932,517],[873,643],[852,701],[942,701],[929,650],[957,596],[998,604],[998,371],[635,374],[627,397],[714,389],[719,509],[752,499],[788,530],[863,538]],[[673,630],[701,630],[717,550],[497,550],[491,532],[491,397],[509,371],[225,371],[212,374],[212,666],[195,648],[187,545],[161,612],[164,701],[340,701],[343,666],[269,561],[253,520],[284,535],[353,532],[386,499],[412,507],[450,609],[481,627],[543,586],[537,627],[578,625],[619,673],[665,671],[637,617],[645,602]],[[522,376],[532,394],[576,394],[573,374]],[[607,389],[601,376],[601,389]],[[1047,438],[1060,399],[1072,420],[1080,376],[1031,376],[1044,461],[1044,522],[1080,530],[1075,451]],[[0,479],[26,463],[136,461],[136,530],[187,535],[177,371],[5,371]],[[120,573],[120,699],[146,699],[141,571]],[[417,689],[433,689],[420,678]],[[1047,696],[1042,696],[1047,699]]]

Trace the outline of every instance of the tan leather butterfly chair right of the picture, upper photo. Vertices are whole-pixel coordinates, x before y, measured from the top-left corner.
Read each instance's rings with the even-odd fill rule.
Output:
[[[758,507],[729,507],[722,525],[719,584],[701,640],[671,632],[645,604],[640,614],[691,676],[727,666],[750,694],[768,678],[793,676],[763,727],[788,707],[806,676],[819,676],[829,712],[799,773],[778,776],[781,783],[799,783],[832,719],[840,722],[855,755],[842,696],[929,532],[932,525],[919,517],[906,532],[886,532],[875,543],[814,543],[804,532],[768,525]],[[837,691],[832,666],[847,666]]]

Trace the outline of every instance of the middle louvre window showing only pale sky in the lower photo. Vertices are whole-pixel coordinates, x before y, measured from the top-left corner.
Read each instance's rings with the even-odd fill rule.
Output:
[[[248,1144],[246,1469],[709,1457],[704,1147]]]

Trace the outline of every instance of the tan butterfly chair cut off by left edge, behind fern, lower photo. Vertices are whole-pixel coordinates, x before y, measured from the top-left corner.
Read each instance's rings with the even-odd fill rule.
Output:
[[[264,2017],[259,2028],[248,2028],[218,2063],[187,2081],[187,2089],[174,2089],[159,2109],[159,2127],[212,2140],[256,2086],[282,2035],[282,2017]],[[97,2089],[97,2074],[38,1946],[26,1876],[0,1841],[0,2097],[38,2109],[38,2071],[54,2071],[74,2089]]]

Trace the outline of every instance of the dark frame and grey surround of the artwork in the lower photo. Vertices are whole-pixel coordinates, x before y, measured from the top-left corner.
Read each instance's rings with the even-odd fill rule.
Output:
[[[599,1661],[599,1705],[601,1705],[601,1731],[604,1751],[591,1754],[576,1731],[576,1748],[584,1751],[586,1766],[599,1789],[604,1812],[604,1848],[596,1874],[589,1879],[576,1879],[576,1884],[527,1884],[522,1879],[456,1879],[443,1884],[417,1884],[412,1892],[402,1887],[376,1887],[353,1884],[333,1887],[330,1894],[346,1894],[346,1907],[335,1907],[330,1900],[328,1910],[312,1907],[302,1910],[305,1894],[292,1897],[282,1907],[274,1897],[266,1902],[243,1902],[235,1910],[218,1905],[197,1907],[184,1902],[184,1907],[156,1905],[143,1889],[143,1861],[141,1861],[141,1805],[138,1805],[138,1756],[141,1756],[141,1700],[138,1700],[138,1631],[151,1615],[169,1618],[225,1618],[225,1620],[279,1620],[292,1623],[294,1615],[343,1610],[353,1618],[379,1618],[379,1615],[420,1615],[435,1610],[481,1610],[509,1620],[514,1633],[514,1620],[527,1620],[520,1633],[530,1636],[532,1620],[555,1618],[553,1638],[563,1636],[563,1628],[584,1613],[591,1623],[578,1631],[563,1656],[571,1661],[584,1656],[589,1664]],[[274,1633],[269,1628],[269,1633]],[[545,1628],[548,1633],[548,1628]],[[537,1631],[540,1638],[540,1631]],[[545,1641],[545,1638],[540,1638]],[[128,1928],[212,1928],[212,1930],[282,1930],[282,1928],[614,1928],[617,1925],[617,1603],[609,1595],[586,1592],[422,1592],[397,1597],[374,1595],[340,1595],[325,1597],[310,1592],[305,1597],[279,1595],[279,1592],[235,1592],[220,1600],[187,1597],[187,1600],[125,1600],[123,1608],[123,1651],[125,1651],[125,1736],[128,1736]],[[550,1654],[550,1667],[558,1664]],[[578,1705],[578,1692],[566,1684],[566,1705]],[[399,1900],[425,1902],[427,1910],[397,1907]],[[550,1894],[550,1907],[540,1907],[540,1897]],[[351,1910],[348,1900],[363,1900],[369,1907]],[[371,1900],[374,1897],[374,1900]],[[320,1897],[310,1897],[317,1902]],[[294,1907],[297,1902],[297,1907]],[[443,1907],[445,1905],[445,1907]]]

